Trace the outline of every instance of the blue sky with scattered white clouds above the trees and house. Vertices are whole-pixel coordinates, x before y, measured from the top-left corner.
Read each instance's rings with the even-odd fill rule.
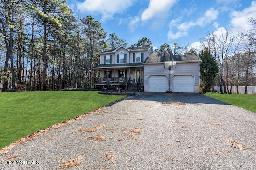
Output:
[[[248,29],[247,18],[256,17],[252,0],[67,0],[67,4],[74,14],[92,15],[108,35],[115,33],[128,45],[147,37],[155,48],[177,42],[198,49],[209,32]]]

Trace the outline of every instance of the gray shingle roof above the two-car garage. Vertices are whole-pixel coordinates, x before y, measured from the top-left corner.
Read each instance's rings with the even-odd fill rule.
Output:
[[[164,61],[200,61],[195,54],[189,55],[173,55],[172,51],[153,52],[145,63],[159,63]]]

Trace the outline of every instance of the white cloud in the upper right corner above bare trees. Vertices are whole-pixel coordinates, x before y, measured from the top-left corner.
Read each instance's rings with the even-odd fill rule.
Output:
[[[236,30],[249,29],[251,27],[248,18],[256,16],[256,1],[251,2],[251,6],[242,11],[234,11],[230,14],[231,24]]]

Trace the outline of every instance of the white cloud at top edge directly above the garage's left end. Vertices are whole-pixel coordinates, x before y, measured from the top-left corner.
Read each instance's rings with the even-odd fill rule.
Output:
[[[146,21],[154,16],[167,16],[166,14],[177,1],[178,0],[150,0],[148,8],[142,12],[141,20]]]

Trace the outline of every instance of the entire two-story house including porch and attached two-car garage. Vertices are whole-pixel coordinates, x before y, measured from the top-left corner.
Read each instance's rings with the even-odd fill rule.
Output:
[[[166,61],[175,61],[169,72]],[[153,52],[152,46],[118,47],[100,53],[100,64],[93,68],[94,87],[141,85],[145,92],[200,92],[200,58],[191,55],[173,55],[172,51]],[[98,74],[95,74],[98,72]],[[128,88],[129,90],[129,88]]]

